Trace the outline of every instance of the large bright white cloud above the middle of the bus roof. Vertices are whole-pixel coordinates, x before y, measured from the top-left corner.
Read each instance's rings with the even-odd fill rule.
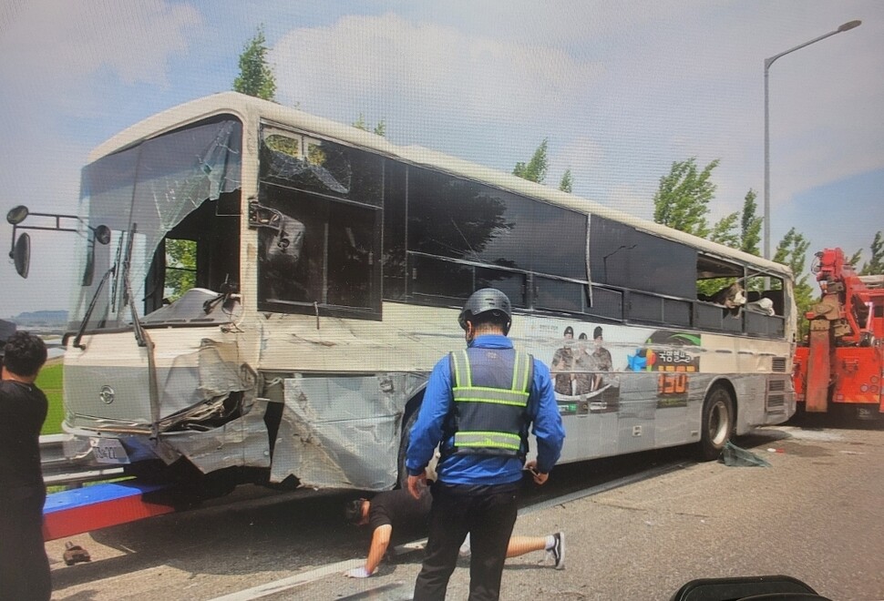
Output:
[[[453,119],[537,122],[572,107],[602,70],[553,46],[467,35],[398,15],[345,16],[327,27],[295,29],[274,45],[272,61],[284,103],[351,120],[384,112],[387,122],[415,130]]]

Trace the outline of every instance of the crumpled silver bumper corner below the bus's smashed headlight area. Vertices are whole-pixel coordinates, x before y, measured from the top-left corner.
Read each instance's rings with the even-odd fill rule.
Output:
[[[264,424],[266,399],[257,399],[248,413],[207,432],[186,430],[160,434],[163,443],[209,474],[225,467],[270,467],[270,441]]]

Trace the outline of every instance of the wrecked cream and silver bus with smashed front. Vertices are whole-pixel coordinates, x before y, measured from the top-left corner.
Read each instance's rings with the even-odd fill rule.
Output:
[[[554,372],[562,461],[712,457],[795,411],[786,267],[253,97],[97,148],[76,222],[64,428],[84,463],[394,487],[427,374],[486,286]],[[27,246],[14,231],[25,274]],[[711,279],[735,294],[698,294]]]

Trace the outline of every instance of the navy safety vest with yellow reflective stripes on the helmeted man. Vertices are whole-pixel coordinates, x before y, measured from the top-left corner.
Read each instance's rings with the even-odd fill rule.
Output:
[[[443,454],[522,457],[528,453],[528,397],[534,358],[514,349],[451,353],[454,386]]]

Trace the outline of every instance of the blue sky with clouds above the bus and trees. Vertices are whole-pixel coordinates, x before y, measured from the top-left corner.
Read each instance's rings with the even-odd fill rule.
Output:
[[[884,229],[884,3],[761,0],[401,3],[5,0],[0,209],[73,212],[100,142],[230,89],[264,25],[277,99],[509,171],[549,138],[556,186],[650,218],[673,161],[714,170],[711,219],[764,188],[770,69],[772,247],[865,249]],[[41,232],[37,232],[40,234]],[[0,228],[9,248],[11,228]],[[37,235],[31,276],[3,269],[0,317],[61,309],[73,236]]]

